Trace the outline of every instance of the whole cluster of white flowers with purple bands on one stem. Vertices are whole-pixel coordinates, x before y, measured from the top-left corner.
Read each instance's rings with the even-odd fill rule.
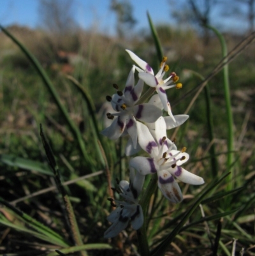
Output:
[[[112,225],[105,232],[106,238],[117,236],[120,231],[126,229],[129,221],[135,230],[142,227],[143,211],[139,204],[139,195],[146,175],[157,173],[159,189],[166,199],[175,203],[182,201],[182,192],[174,177],[188,184],[204,183],[203,178],[180,167],[189,159],[189,154],[185,152],[186,147],[177,150],[175,143],[166,135],[166,130],[180,126],[189,117],[173,116],[166,95],[166,89],[182,87],[182,84],[177,83],[179,77],[171,72],[168,78],[163,80],[169,70],[166,57],[161,62],[159,72],[154,75],[148,63],[130,50],[126,51],[138,66],[133,65],[131,68],[123,91],[119,91],[119,86],[113,84],[116,93],[106,96],[106,100],[112,104],[113,108],[112,113],[106,114],[108,119],[112,120],[112,124],[101,133],[113,140],[129,135],[126,155],[131,156],[143,150],[149,156],[131,158],[129,161],[130,183],[120,181],[119,189],[114,189],[124,200],[109,199],[116,209],[107,218]],[[136,71],[139,80],[135,85]],[[157,93],[147,103],[141,102],[144,83],[153,87]],[[168,116],[163,116],[163,109]]]

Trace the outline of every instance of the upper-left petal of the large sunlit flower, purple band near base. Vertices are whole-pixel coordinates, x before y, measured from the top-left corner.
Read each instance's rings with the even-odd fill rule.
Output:
[[[159,148],[156,141],[149,132],[148,127],[145,124],[137,122],[138,142],[142,149],[150,154],[152,157],[156,157],[159,154]]]

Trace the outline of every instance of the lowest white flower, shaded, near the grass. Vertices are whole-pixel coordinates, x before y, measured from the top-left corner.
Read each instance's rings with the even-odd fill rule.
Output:
[[[129,221],[135,230],[140,229],[143,225],[143,210],[138,203],[138,196],[142,191],[144,176],[139,173],[134,174],[135,170],[131,169],[130,183],[128,181],[120,181],[119,183],[120,196],[124,198],[124,201],[109,199],[112,206],[115,206],[113,203],[115,201],[117,208],[107,217],[112,225],[105,231],[105,238],[117,236],[119,232],[126,229]]]

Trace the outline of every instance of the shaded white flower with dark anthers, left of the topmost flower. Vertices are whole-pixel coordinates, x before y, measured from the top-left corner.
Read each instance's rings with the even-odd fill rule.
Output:
[[[109,119],[113,119],[114,116],[117,118],[101,134],[110,139],[118,139],[124,132],[127,132],[131,137],[133,147],[136,148],[138,134],[136,119],[146,123],[154,123],[161,116],[162,111],[150,103],[136,105],[142,94],[143,81],[139,79],[135,86],[134,73],[135,67],[133,66],[125,89],[122,92],[117,91],[112,97],[108,96],[107,99],[112,103],[112,107],[117,113],[108,113],[107,116]],[[114,86],[118,89],[117,85]]]

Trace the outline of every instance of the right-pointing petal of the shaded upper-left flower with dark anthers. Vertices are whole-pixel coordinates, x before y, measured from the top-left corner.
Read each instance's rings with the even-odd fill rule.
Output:
[[[134,107],[134,116],[145,123],[154,123],[162,116],[162,110],[152,104],[143,103]]]

